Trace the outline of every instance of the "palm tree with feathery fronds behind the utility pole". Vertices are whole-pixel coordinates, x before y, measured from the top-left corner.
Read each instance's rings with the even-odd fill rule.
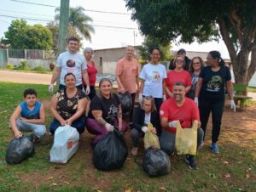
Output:
[[[69,25],[73,26],[85,38],[91,41],[90,33],[94,33],[94,28],[90,24],[92,19],[84,14],[84,8],[81,6],[69,8]],[[55,8],[55,20],[60,20],[60,8]]]

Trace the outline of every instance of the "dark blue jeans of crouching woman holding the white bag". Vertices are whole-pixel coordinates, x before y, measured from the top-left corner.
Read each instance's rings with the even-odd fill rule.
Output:
[[[49,125],[49,132],[55,134],[55,131],[58,127],[61,127],[61,123],[54,119]],[[78,130],[79,134],[84,133],[85,130],[85,117],[81,116],[79,119],[72,122],[71,127],[74,127]]]

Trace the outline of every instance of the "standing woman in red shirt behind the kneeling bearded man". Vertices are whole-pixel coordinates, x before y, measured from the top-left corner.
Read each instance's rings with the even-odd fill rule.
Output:
[[[180,55],[177,55],[173,61],[174,70],[167,73],[166,78],[166,98],[172,98],[173,85],[176,82],[183,82],[185,85],[185,92],[188,93],[191,88],[191,76],[188,71],[183,70],[184,59]]]

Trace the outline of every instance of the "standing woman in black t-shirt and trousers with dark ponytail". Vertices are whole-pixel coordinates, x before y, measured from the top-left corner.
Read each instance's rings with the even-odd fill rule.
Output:
[[[218,153],[218,135],[224,110],[225,87],[230,97],[230,107],[236,111],[233,100],[230,70],[224,65],[218,51],[207,54],[207,66],[201,70],[195,89],[195,103],[199,103],[201,128],[206,135],[207,121],[212,112],[212,152]],[[198,96],[200,100],[198,102]]]

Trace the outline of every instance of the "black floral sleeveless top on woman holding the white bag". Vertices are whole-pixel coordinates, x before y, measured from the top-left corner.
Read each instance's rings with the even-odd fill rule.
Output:
[[[79,89],[72,98],[68,98],[66,88],[58,90],[55,96],[58,99],[56,110],[64,120],[69,119],[77,112],[79,99],[85,98],[85,94]]]

